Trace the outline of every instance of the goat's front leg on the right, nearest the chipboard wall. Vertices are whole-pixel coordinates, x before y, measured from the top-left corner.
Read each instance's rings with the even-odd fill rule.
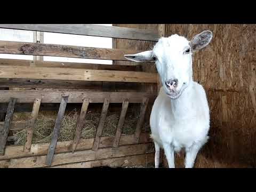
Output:
[[[186,149],[185,168],[193,168],[197,153],[201,146],[201,143],[195,143]]]

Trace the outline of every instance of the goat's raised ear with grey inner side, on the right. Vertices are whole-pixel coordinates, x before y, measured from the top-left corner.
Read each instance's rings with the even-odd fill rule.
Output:
[[[189,45],[191,47],[191,51],[198,51],[203,49],[205,46],[207,46],[212,40],[212,31],[205,30],[201,34],[195,35],[191,41],[189,42]]]

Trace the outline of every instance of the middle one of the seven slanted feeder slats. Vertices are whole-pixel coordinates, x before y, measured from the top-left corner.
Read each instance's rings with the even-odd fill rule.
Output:
[[[85,115],[87,113],[87,108],[89,106],[89,103],[90,103],[89,98],[85,98],[83,101],[82,108],[81,108],[81,113],[79,115],[78,123],[76,125],[76,133],[75,133],[75,137],[74,137],[73,144],[72,144],[73,153],[74,153],[74,151],[78,145],[78,142],[81,138],[81,131],[85,124]]]

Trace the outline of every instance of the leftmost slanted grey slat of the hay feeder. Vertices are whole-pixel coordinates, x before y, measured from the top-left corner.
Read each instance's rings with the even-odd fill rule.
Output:
[[[15,107],[17,98],[10,98],[9,105],[7,108],[7,113],[5,116],[4,127],[0,130],[0,155],[4,155],[5,145],[10,130],[10,125],[12,121],[12,115]]]

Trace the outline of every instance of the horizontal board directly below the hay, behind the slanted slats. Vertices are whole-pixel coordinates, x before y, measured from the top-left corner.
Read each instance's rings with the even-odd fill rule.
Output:
[[[102,137],[99,148],[107,148],[113,146],[115,137]],[[92,148],[94,138],[80,139],[76,147],[76,151],[89,150]],[[139,143],[151,142],[148,133],[141,133]],[[121,135],[119,146],[132,145],[137,143],[134,135]],[[55,154],[72,152],[73,141],[59,141],[55,147]],[[21,158],[30,156],[46,155],[50,142],[32,144],[30,151],[23,151],[23,146],[6,146],[4,156],[0,156],[0,160]]]

